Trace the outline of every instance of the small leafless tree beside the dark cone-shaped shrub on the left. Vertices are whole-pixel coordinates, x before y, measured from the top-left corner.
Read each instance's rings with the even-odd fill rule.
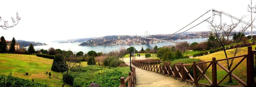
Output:
[[[62,69],[63,67],[61,66],[67,66],[66,71],[61,73],[62,77],[54,76],[54,78],[61,79],[64,81],[64,84],[62,85],[62,87],[64,87],[64,85],[67,84],[67,82],[70,81],[72,78],[75,78],[81,73],[80,67],[81,67],[82,59],[83,58],[76,57],[75,55],[71,55],[69,58],[64,58],[66,62],[58,64],[59,70],[63,70]],[[74,74],[74,77],[70,78],[69,75],[75,72],[76,74]]]

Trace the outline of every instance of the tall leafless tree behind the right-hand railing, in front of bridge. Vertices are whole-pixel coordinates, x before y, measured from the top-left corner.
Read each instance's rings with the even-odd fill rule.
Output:
[[[233,32],[236,29],[240,28],[240,31],[244,34],[244,31],[246,29],[249,28],[249,26],[251,25],[251,23],[247,23],[245,24],[246,26],[242,26],[239,27],[239,24],[243,25],[241,23],[241,20],[244,18],[245,16],[241,17],[241,19],[238,19],[238,22],[234,23],[231,17],[231,24],[227,24],[227,23],[222,23],[222,24],[216,24],[214,23],[214,20],[207,20],[207,22],[210,24],[210,29],[212,30],[213,34],[216,36],[216,38],[218,39],[218,41],[216,41],[216,44],[219,44],[221,48],[224,49],[224,53],[225,53],[225,57],[228,58],[227,52],[226,52],[226,48],[225,45],[229,42],[229,38],[231,36],[231,32]],[[247,26],[249,25],[249,26]],[[238,44],[240,42],[240,39],[242,37],[239,37],[239,40],[237,40],[236,44]],[[233,54],[234,56],[236,56],[236,54],[241,51],[241,45],[239,47],[237,47],[236,49],[234,49]],[[230,70],[231,66],[233,64],[233,59],[229,59],[227,60],[227,66],[228,66],[228,70]],[[229,75],[229,83],[232,82],[232,78],[231,75]]]

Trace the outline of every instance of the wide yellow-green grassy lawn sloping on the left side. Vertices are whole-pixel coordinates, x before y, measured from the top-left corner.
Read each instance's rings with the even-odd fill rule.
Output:
[[[62,76],[62,74],[51,70],[52,62],[52,59],[36,57],[36,55],[0,54],[0,74],[8,75],[11,72],[14,77],[34,79],[35,82],[46,83],[53,87],[62,86],[62,80],[53,78],[55,75]],[[82,65],[86,66],[87,63],[83,62]],[[46,71],[51,72],[51,79]],[[26,72],[28,76],[25,75]]]

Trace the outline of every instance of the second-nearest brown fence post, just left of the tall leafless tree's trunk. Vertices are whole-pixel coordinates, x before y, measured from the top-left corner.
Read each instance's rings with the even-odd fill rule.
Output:
[[[216,58],[212,57],[212,86],[217,86],[217,64]]]

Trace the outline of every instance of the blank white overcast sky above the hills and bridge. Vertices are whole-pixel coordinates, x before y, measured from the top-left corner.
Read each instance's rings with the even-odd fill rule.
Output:
[[[9,20],[19,13],[19,24],[0,29],[6,40],[55,41],[108,35],[170,34],[207,10],[235,17],[250,15],[250,0],[2,0],[0,16]],[[256,1],[253,1],[255,4]],[[211,16],[209,12],[196,23]],[[253,13],[253,17],[256,16]],[[223,16],[222,19],[229,19]],[[217,18],[219,19],[219,18]],[[250,20],[250,17],[244,19]],[[193,23],[188,28],[196,25]],[[188,29],[186,28],[186,29]],[[202,23],[190,31],[209,30]]]

